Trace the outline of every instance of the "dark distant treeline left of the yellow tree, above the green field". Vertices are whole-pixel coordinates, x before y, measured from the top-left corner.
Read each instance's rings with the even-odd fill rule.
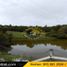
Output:
[[[17,32],[23,32],[25,29],[27,29],[27,26],[12,26],[12,25],[0,25],[0,30],[2,31],[17,31]]]

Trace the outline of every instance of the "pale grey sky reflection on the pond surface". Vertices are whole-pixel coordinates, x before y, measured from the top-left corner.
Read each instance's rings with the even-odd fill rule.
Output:
[[[35,44],[30,48],[27,45],[12,45],[13,49],[9,51],[13,55],[22,55],[26,57],[33,57],[35,59],[49,55],[48,50],[53,49],[54,55],[67,57],[67,50],[62,49],[60,46],[51,44]]]

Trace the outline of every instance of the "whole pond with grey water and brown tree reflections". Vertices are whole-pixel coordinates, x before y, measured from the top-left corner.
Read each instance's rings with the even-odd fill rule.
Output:
[[[31,43],[31,44],[30,44]],[[34,59],[46,57],[49,50],[53,49],[55,56],[67,57],[67,40],[36,41],[23,44],[11,45],[12,49],[8,51],[11,55],[21,55],[32,57]]]

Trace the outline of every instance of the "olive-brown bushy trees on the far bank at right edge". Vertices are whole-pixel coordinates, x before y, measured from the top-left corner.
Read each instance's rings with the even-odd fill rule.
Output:
[[[47,32],[46,36],[67,39],[67,25],[47,27],[45,31]]]

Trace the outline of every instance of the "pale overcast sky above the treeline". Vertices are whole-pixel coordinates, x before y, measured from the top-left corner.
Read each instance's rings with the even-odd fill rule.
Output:
[[[67,0],[0,0],[0,24],[67,24]]]

